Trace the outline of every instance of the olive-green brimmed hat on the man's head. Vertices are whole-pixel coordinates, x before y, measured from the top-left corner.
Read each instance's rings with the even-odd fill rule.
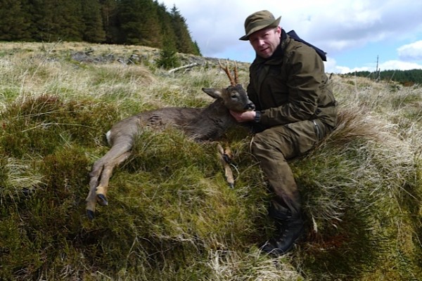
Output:
[[[239,40],[248,41],[250,34],[257,32],[258,30],[263,30],[266,27],[278,27],[281,17],[274,18],[274,15],[269,11],[259,11],[252,13],[245,20],[245,32],[246,34]]]

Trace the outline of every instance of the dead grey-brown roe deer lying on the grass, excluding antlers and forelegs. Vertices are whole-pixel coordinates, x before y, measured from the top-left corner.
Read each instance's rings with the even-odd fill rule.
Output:
[[[158,110],[141,112],[117,122],[107,133],[110,150],[96,161],[89,173],[89,194],[87,214],[94,218],[96,202],[107,205],[108,181],[115,166],[130,155],[134,140],[142,129],[150,127],[162,129],[175,126],[195,141],[214,141],[236,124],[229,110],[238,112],[253,110],[255,105],[249,100],[240,84],[226,89],[203,89],[215,101],[205,108],[164,107]]]

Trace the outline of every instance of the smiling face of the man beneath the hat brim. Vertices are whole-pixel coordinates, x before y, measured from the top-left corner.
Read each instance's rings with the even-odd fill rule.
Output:
[[[269,27],[250,34],[249,41],[257,55],[269,58],[280,44],[281,28]]]

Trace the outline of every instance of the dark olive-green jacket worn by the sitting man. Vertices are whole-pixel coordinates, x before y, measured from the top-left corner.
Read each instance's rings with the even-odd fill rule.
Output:
[[[257,56],[250,65],[248,96],[261,112],[260,126],[319,119],[334,127],[337,103],[312,47],[282,32],[279,48],[267,59]]]

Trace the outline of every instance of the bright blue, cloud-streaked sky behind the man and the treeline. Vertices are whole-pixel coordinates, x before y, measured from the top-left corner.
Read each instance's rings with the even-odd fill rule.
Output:
[[[158,0],[175,5],[193,41],[210,58],[252,63],[244,22],[268,10],[280,26],[327,53],[326,72],[422,69],[422,1]]]

